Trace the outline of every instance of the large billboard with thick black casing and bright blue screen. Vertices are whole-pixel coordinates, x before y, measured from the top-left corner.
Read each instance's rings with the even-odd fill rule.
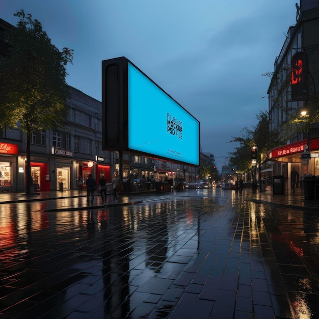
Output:
[[[102,108],[104,149],[199,166],[199,121],[124,57],[102,61]]]

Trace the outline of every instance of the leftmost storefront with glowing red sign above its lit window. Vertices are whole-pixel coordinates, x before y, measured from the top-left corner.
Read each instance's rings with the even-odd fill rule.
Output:
[[[0,192],[17,190],[16,167],[19,148],[17,144],[0,142]]]

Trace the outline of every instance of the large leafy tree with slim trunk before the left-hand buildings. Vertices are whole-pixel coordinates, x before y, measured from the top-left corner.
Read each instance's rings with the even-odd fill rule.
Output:
[[[65,66],[73,50],[59,49],[42,30],[41,22],[23,10],[9,36],[9,54],[1,59],[0,127],[20,126],[26,135],[26,194],[31,192],[31,135],[39,129],[63,127],[66,120]]]

